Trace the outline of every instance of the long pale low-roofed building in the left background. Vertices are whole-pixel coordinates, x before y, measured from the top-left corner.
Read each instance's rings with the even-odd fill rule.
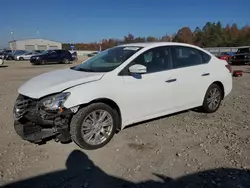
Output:
[[[62,49],[62,43],[41,38],[13,40],[9,42],[11,50],[50,50]]]

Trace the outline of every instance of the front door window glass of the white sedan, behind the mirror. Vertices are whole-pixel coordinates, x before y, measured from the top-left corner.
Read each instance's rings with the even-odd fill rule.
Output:
[[[139,55],[133,64],[141,64],[147,67],[147,73],[169,70],[170,51],[169,47],[157,47]]]

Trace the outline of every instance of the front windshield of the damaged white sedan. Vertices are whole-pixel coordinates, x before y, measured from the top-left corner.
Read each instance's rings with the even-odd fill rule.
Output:
[[[118,46],[107,49],[71,69],[86,72],[109,72],[120,66],[142,47]]]

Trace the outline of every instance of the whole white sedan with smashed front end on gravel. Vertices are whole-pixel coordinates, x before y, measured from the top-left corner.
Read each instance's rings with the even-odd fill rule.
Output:
[[[116,46],[24,83],[14,127],[32,143],[55,138],[97,149],[130,124],[197,107],[216,112],[232,90],[231,72],[226,61],[189,44]]]

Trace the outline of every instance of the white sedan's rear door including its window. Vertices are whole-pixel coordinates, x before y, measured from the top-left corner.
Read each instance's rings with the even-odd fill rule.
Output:
[[[211,84],[211,57],[192,47],[171,47],[173,57],[172,79],[178,87],[174,95],[175,108],[185,110],[202,105],[205,93]]]

